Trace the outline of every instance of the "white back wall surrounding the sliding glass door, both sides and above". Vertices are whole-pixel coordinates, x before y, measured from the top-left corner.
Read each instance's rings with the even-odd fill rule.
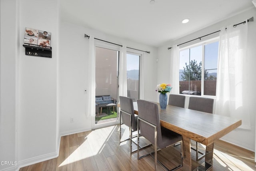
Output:
[[[126,44],[128,47],[150,51],[144,54],[144,99],[156,101],[154,89],[156,86],[156,48],[136,44],[128,40],[122,40],[114,36],[106,35],[97,30],[91,30],[67,22],[61,22],[60,35],[69,34],[74,42],[68,42],[70,38],[60,36],[60,133],[66,135],[78,131],[92,129],[91,117],[86,117],[88,107],[87,93],[84,93],[87,84],[87,59],[88,38],[92,34],[95,38]],[[102,42],[100,42],[102,43]],[[94,102],[93,102],[94,103]],[[70,122],[74,118],[74,122]]]

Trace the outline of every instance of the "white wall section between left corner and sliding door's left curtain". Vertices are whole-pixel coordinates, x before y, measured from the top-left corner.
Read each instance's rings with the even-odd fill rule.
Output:
[[[62,135],[91,129],[86,117],[87,59],[89,42],[85,30],[67,23],[60,25],[60,133]],[[62,36],[62,35],[68,35]],[[74,122],[70,122],[70,118]]]

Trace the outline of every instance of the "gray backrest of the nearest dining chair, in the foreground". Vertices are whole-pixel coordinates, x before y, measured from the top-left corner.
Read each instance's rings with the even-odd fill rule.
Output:
[[[138,103],[138,117],[157,126],[157,142],[161,142],[162,133],[160,125],[160,117],[158,111],[158,105],[151,101],[137,100]],[[139,121],[140,135],[148,139],[152,144],[155,143],[155,129],[154,127]]]

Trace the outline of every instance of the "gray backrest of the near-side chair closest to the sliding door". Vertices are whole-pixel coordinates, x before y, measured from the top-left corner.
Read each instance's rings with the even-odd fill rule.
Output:
[[[120,102],[120,108],[121,108],[120,115],[122,117],[122,122],[128,127],[132,127],[133,130],[137,130],[137,122],[135,121],[132,99],[129,97],[119,96],[119,102]],[[132,115],[132,125],[131,125],[130,116],[125,114],[122,111],[125,111]]]

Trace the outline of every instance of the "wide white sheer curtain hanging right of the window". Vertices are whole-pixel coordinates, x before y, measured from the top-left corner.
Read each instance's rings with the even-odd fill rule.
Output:
[[[216,114],[242,119],[250,129],[248,102],[247,22],[220,32]]]

